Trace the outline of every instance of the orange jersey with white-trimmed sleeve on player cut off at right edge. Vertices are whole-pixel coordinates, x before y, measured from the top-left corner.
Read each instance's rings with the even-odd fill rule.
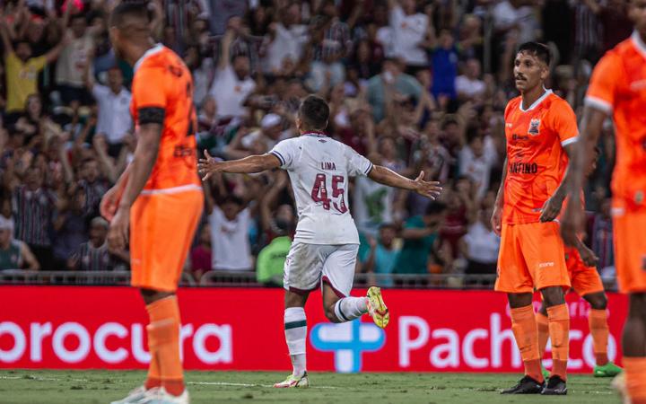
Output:
[[[585,102],[615,121],[614,198],[628,210],[646,208],[646,44],[636,32],[595,66]]]

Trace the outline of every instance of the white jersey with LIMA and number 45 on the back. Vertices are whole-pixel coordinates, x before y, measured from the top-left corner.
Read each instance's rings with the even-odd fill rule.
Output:
[[[294,242],[359,244],[348,205],[348,181],[368,175],[372,163],[351,147],[315,133],[284,140],[270,153],[292,182],[299,215]]]

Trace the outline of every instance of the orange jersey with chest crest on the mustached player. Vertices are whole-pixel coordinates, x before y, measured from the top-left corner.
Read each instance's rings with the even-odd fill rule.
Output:
[[[576,116],[567,101],[547,90],[528,110],[522,97],[505,109],[507,178],[502,222],[539,222],[540,209],[563,180],[568,158],[563,149],[579,135]]]

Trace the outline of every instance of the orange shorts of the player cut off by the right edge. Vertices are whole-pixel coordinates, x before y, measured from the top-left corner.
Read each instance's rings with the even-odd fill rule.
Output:
[[[613,201],[612,211],[619,290],[646,292],[646,209],[629,211]]]

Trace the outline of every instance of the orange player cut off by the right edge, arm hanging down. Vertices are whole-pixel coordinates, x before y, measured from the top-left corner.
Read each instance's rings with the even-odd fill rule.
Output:
[[[646,403],[646,0],[631,0],[633,35],[609,50],[595,66],[581,121],[581,145],[572,156],[570,202],[563,240],[573,245],[583,228],[580,190],[603,122],[615,121],[613,232],[619,288],[629,294],[624,325],[624,377],[627,400]]]

